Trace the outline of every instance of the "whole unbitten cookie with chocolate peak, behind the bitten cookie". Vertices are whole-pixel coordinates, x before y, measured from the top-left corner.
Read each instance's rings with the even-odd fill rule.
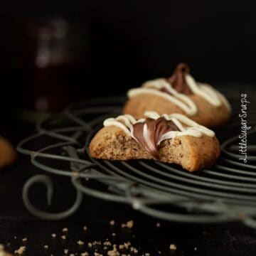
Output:
[[[185,63],[178,64],[170,78],[144,82],[127,95],[123,114],[135,118],[142,118],[145,111],[180,113],[203,126],[217,127],[231,115],[228,100],[210,85],[196,82]]]

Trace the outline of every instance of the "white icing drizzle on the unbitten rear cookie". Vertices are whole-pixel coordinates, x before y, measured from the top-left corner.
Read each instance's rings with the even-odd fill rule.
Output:
[[[217,90],[213,89],[210,85],[203,84],[201,82],[196,82],[191,75],[185,75],[186,83],[190,88],[191,92],[195,95],[203,97],[204,100],[210,103],[215,107],[220,107],[224,104],[228,110],[231,111],[231,107],[228,103],[228,100]],[[170,92],[169,95],[166,92],[161,92],[160,90],[165,88]],[[158,78],[144,82],[142,87],[133,88],[128,91],[127,95],[129,98],[140,94],[151,94],[163,97],[170,102],[173,102],[175,105],[181,108],[188,115],[195,115],[198,111],[195,102],[191,100],[188,95],[177,92],[172,86],[171,83],[167,82],[164,78]]]

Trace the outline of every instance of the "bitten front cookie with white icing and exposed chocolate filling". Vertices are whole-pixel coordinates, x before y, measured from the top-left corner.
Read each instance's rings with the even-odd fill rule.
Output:
[[[212,166],[220,154],[215,133],[183,114],[146,112],[109,118],[89,145],[97,159],[156,159],[179,164],[188,171]]]

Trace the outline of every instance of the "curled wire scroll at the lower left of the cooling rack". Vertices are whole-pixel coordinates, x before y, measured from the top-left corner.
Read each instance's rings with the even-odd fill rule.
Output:
[[[46,185],[48,205],[50,205],[53,197],[53,182],[50,180],[48,176],[36,175],[29,178],[28,181],[26,181],[22,191],[23,203],[28,209],[28,211],[31,214],[35,215],[36,217],[41,218],[43,220],[62,220],[72,215],[73,213],[75,213],[75,211],[78,210],[78,208],[80,207],[82,203],[83,194],[82,192],[77,190],[75,203],[73,203],[73,206],[71,206],[68,210],[64,210],[61,213],[48,213],[43,210],[39,210],[38,208],[32,205],[31,201],[29,201],[29,198],[28,198],[29,189],[34,183],[38,183],[38,182]]]

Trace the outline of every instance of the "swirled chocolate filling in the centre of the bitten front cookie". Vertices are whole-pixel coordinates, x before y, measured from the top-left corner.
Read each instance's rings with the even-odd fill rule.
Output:
[[[164,117],[158,119],[146,118],[144,122],[137,122],[132,127],[132,136],[155,159],[159,159],[157,145],[161,137],[166,132],[179,131],[174,122],[166,120]]]

